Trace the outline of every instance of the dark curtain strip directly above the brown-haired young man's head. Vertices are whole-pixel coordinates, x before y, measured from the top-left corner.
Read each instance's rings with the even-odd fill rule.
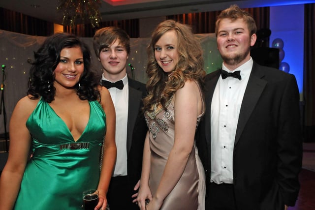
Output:
[[[64,26],[63,31],[74,33],[82,37],[93,37],[95,31],[103,27],[116,26],[126,30],[130,38],[139,37],[139,19],[119,20],[119,21],[104,21],[99,23],[99,27],[93,28],[92,24],[76,25],[74,29],[70,26]]]

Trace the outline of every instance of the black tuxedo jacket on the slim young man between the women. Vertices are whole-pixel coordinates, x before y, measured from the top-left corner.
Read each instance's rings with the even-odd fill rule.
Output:
[[[143,146],[148,130],[142,112],[142,98],[146,96],[147,91],[145,84],[129,77],[128,86],[127,173],[133,188],[141,176]]]

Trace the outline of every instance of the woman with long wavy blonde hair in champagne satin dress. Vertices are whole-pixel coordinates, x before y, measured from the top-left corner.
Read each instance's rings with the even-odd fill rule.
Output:
[[[204,113],[202,49],[190,28],[158,25],[148,46],[149,128],[137,204],[141,210],[204,210],[205,175],[194,136]]]

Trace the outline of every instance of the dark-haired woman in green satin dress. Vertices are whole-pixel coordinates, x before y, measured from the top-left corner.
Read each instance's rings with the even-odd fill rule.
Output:
[[[28,95],[10,120],[0,209],[80,210],[82,192],[97,189],[95,209],[105,210],[116,158],[115,109],[90,69],[88,47],[57,33],[31,63]]]

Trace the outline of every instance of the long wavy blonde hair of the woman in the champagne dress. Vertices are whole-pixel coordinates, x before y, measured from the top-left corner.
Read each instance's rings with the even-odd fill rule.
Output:
[[[171,76],[164,72],[155,58],[155,45],[163,34],[174,30],[177,35],[177,50],[179,60]],[[161,103],[166,109],[166,102],[174,92],[181,89],[188,79],[204,86],[205,71],[203,69],[203,51],[200,42],[194,37],[188,25],[166,20],[161,22],[153,31],[151,43],[147,48],[148,65],[146,73],[149,80],[146,84],[148,95],[143,99],[144,110],[152,111],[153,104]]]

